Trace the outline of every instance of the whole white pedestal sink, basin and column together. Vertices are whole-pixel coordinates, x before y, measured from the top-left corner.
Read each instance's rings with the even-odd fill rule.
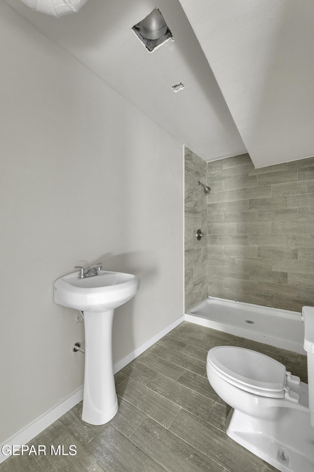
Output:
[[[82,420],[105,424],[118,411],[112,365],[114,309],[132,298],[139,278],[132,274],[99,270],[78,278],[79,272],[54,282],[54,302],[84,312],[85,375]]]

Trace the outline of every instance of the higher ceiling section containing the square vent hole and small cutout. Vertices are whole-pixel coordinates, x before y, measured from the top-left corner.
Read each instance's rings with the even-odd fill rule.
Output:
[[[6,2],[205,160],[246,152],[179,0],[89,0],[61,18]],[[156,6],[175,42],[149,53],[131,28]],[[185,88],[175,93],[180,82]]]

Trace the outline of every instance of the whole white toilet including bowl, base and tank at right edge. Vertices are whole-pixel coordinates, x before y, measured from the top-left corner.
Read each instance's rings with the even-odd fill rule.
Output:
[[[232,407],[227,435],[281,472],[314,471],[314,307],[302,309],[309,385],[277,360],[235,346],[207,356],[209,383]]]

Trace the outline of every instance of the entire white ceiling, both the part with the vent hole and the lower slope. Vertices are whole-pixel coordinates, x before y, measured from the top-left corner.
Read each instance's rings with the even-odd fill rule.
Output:
[[[59,19],[0,1],[205,160],[314,154],[312,0],[89,0]],[[175,42],[148,53],[131,28],[155,7]]]

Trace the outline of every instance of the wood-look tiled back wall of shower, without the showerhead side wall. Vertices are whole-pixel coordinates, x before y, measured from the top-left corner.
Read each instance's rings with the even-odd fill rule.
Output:
[[[301,311],[314,305],[314,157],[255,169],[208,163],[208,295]]]

